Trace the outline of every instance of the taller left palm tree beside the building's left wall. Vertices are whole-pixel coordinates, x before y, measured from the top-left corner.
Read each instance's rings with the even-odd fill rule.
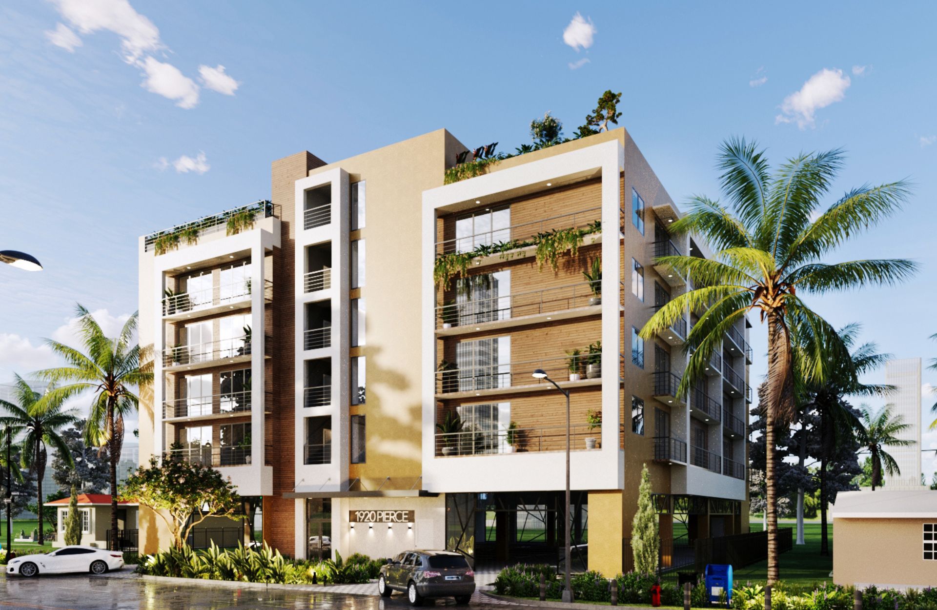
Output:
[[[111,460],[111,546],[117,549],[117,463],[124,444],[124,417],[137,410],[140,399],[134,387],[153,382],[152,363],[140,345],[131,345],[137,328],[138,314],[124,323],[117,338],[104,335],[100,325],[87,309],[77,305],[78,333],[84,352],[67,345],[46,340],[46,345],[61,356],[66,366],[39,371],[37,375],[53,382],[65,383],[55,390],[71,396],[87,390],[94,392],[91,413],[84,428],[84,441],[91,446],[106,448]]]

